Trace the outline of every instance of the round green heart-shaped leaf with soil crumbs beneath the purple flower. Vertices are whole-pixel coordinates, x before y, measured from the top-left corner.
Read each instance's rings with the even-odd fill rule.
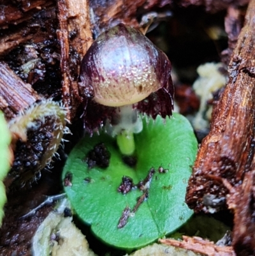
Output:
[[[89,169],[85,158],[99,143],[110,151],[106,169]],[[144,120],[141,133],[135,135],[137,163],[129,167],[112,137],[101,134],[85,137],[71,151],[64,167],[64,186],[77,215],[91,225],[100,239],[119,248],[139,248],[178,229],[193,214],[186,203],[185,193],[198,144],[189,121],[173,114],[164,121]],[[156,170],[149,187],[149,197],[128,217],[126,225],[118,228],[126,207],[131,210],[144,193],[131,190],[123,195],[117,189],[123,176],[133,183],[145,179],[149,170]],[[159,172],[159,167],[168,172]]]

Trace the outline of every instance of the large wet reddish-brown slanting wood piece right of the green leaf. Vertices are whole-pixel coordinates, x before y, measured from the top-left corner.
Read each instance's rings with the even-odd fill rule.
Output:
[[[230,81],[214,109],[210,133],[201,144],[189,179],[186,200],[195,211],[217,209],[217,204],[206,205],[204,196],[226,197],[228,188],[221,179],[235,186],[251,170],[255,135],[254,17],[252,1],[231,57]]]

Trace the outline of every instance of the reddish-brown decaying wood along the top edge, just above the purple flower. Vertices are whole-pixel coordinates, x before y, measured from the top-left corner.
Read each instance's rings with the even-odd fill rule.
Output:
[[[102,4],[103,3],[103,4]],[[208,12],[226,10],[229,6],[244,6],[249,0],[109,0],[90,1],[93,17],[91,19],[93,30],[96,35],[113,27],[120,22],[138,28],[140,19],[150,11],[157,10],[161,13],[164,10],[173,10],[178,4],[182,7],[204,6]],[[157,19],[157,18],[156,18]]]

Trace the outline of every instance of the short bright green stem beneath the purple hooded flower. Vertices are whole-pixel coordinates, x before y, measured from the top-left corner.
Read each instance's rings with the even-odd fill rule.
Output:
[[[122,154],[131,156],[135,152],[134,133],[122,130],[122,132],[117,135],[117,144]]]

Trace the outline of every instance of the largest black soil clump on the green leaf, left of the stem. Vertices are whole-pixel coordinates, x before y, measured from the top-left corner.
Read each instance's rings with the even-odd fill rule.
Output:
[[[89,169],[95,166],[105,169],[110,164],[110,156],[110,151],[108,151],[105,144],[99,143],[87,154],[87,165]]]

